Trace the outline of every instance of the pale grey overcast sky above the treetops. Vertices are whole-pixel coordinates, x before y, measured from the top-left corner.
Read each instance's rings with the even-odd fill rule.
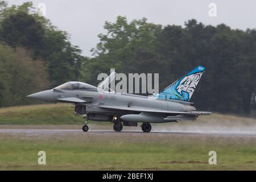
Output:
[[[30,0],[31,1],[31,0]],[[9,5],[20,5],[26,0],[9,0]],[[34,0],[46,5],[46,18],[53,25],[71,35],[72,44],[91,56],[98,34],[104,32],[104,22],[114,22],[118,15],[127,19],[148,19],[156,24],[184,25],[195,18],[204,24],[225,23],[232,28],[256,28],[256,1],[254,0]],[[208,15],[209,3],[217,5],[217,16]]]

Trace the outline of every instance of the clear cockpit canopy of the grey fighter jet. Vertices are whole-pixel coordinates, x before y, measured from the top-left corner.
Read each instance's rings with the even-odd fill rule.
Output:
[[[85,84],[84,82],[79,82],[79,81],[65,82],[65,84],[57,86],[54,89],[60,89],[60,90],[88,90],[88,91],[95,91],[95,92],[97,91],[96,86]]]

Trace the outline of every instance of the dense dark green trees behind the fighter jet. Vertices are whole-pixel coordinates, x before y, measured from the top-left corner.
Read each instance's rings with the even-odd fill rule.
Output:
[[[89,27],[88,27],[89,28]],[[206,26],[195,19],[184,26],[105,22],[106,34],[81,55],[68,33],[39,16],[31,2],[0,2],[0,106],[31,104],[24,96],[63,84],[97,85],[99,73],[159,73],[159,90],[197,65],[205,73],[192,97],[199,109],[255,117],[256,30]],[[86,41],[86,40],[85,40]]]

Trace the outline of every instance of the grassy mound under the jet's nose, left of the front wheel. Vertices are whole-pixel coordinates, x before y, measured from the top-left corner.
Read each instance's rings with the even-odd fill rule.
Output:
[[[0,109],[0,125],[81,125],[81,115],[69,104],[45,104]]]

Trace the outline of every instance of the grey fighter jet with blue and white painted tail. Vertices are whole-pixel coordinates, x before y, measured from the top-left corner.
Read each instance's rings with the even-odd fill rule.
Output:
[[[88,121],[109,121],[113,123],[114,131],[122,131],[123,126],[138,126],[138,123],[142,123],[142,131],[148,133],[151,131],[150,123],[194,121],[199,115],[212,114],[196,111],[193,103],[189,102],[204,70],[203,66],[196,67],[162,92],[149,97],[104,91],[104,85],[114,79],[114,72],[98,87],[70,81],[27,97],[74,104],[75,113],[82,114],[85,120],[82,131],[88,131]]]

